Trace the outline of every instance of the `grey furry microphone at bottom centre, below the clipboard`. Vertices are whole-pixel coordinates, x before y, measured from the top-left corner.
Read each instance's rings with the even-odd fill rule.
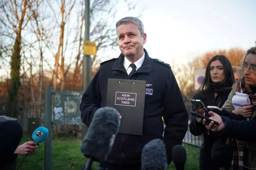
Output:
[[[167,155],[161,139],[147,143],[141,153],[141,170],[166,170]]]

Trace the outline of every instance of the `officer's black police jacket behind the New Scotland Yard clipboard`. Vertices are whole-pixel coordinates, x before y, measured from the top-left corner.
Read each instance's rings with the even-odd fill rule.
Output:
[[[166,144],[169,164],[172,160],[172,148],[182,144],[188,128],[188,114],[170,66],[150,58],[145,49],[144,52],[145,59],[142,66],[130,78],[145,80],[146,84],[150,84],[150,88],[153,88],[153,94],[145,95],[143,136],[117,134],[107,159],[110,163],[137,164],[141,160],[143,146],[152,139],[160,138]],[[90,125],[94,112],[106,106],[108,78],[129,79],[123,62],[123,54],[117,59],[102,62],[84,92],[80,110],[82,122],[87,126]]]

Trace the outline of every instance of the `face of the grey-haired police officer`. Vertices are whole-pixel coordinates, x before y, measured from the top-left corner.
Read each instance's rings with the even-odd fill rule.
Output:
[[[141,35],[139,27],[134,23],[126,23],[117,27],[119,49],[124,56],[131,59],[139,59],[143,56],[143,44],[147,35]]]

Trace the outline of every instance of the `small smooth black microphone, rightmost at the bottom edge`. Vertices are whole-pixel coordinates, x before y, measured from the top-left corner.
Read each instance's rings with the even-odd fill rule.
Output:
[[[176,170],[184,170],[186,163],[186,150],[181,145],[175,145],[172,150],[172,159]]]

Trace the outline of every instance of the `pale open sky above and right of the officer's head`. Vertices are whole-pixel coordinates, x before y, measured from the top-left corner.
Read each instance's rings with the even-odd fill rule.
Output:
[[[136,12],[118,10],[117,20],[140,14],[149,56],[183,64],[207,51],[255,46],[254,7],[255,0],[140,0]]]

